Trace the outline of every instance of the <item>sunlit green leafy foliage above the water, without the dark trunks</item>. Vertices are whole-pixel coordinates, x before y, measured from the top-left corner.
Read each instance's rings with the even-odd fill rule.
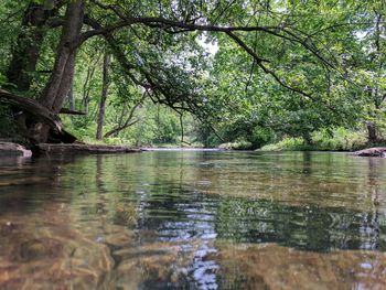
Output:
[[[7,68],[18,35],[28,35],[31,29],[21,21],[30,2],[0,3],[2,87],[11,85]],[[98,2],[115,8],[87,2],[87,17],[103,26],[121,21],[116,13],[120,11],[127,18],[261,29],[234,31],[240,40],[235,41],[218,31],[136,23],[114,31],[115,45],[104,37],[87,40],[77,53],[73,84],[75,109],[86,116],[63,117],[65,127],[83,141],[95,141],[105,53],[112,55],[112,62],[104,133],[122,128],[105,138],[107,143],[181,146],[183,137],[192,143],[225,143],[221,148],[232,149],[276,142],[264,148],[352,150],[365,143],[365,133],[354,133],[353,128],[366,121],[375,123],[378,139],[384,137],[384,1]],[[44,29],[29,96],[42,93],[55,60],[61,30]],[[73,106],[69,98],[65,106]]]

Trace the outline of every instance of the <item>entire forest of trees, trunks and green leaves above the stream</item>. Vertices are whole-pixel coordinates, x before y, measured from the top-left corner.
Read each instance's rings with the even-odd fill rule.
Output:
[[[343,130],[376,143],[386,125],[385,8],[3,0],[0,135],[259,148]]]

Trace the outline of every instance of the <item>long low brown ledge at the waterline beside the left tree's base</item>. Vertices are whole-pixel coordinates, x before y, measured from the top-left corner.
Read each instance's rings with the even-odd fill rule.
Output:
[[[126,146],[103,146],[103,144],[54,144],[39,143],[33,147],[35,154],[63,154],[63,153],[82,153],[82,154],[104,154],[104,153],[135,153],[141,152],[141,149],[130,148]]]

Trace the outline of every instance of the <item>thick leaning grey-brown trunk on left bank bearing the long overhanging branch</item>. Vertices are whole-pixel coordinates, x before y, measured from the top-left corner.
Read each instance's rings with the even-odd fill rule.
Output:
[[[57,46],[54,68],[40,98],[40,103],[54,114],[61,111],[73,82],[75,56],[83,25],[83,17],[84,1],[69,1],[67,3],[61,41]],[[34,142],[46,142],[49,132],[50,126],[43,122],[36,122],[31,126],[29,138]]]

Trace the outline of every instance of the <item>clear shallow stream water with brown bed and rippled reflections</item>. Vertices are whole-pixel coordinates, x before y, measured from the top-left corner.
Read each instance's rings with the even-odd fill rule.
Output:
[[[0,289],[385,289],[386,160],[0,160]]]

